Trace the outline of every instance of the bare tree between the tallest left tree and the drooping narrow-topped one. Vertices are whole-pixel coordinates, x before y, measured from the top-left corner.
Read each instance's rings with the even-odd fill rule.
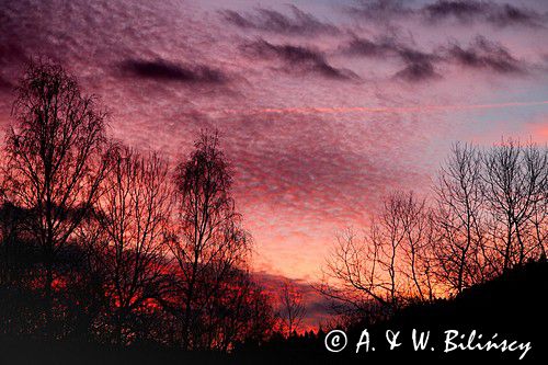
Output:
[[[95,204],[104,230],[102,258],[119,344],[127,342],[128,319],[147,300],[157,298],[163,285],[170,237],[169,182],[168,166],[156,153],[141,156],[121,147],[104,180],[105,193]]]

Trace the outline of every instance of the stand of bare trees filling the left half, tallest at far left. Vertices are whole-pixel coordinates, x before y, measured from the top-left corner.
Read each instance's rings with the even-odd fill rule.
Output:
[[[248,267],[216,133],[199,136],[172,179],[157,153],[111,142],[94,98],[43,60],[28,64],[13,116],[0,335],[225,352],[266,341],[274,309]]]

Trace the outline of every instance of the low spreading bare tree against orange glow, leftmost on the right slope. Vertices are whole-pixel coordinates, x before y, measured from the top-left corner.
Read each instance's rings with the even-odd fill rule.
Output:
[[[341,309],[384,316],[402,304],[407,296],[402,270],[403,242],[410,237],[414,240],[414,232],[408,235],[406,230],[410,228],[404,220],[407,199],[407,195],[398,192],[388,196],[363,239],[352,230],[338,237],[334,250],[327,260],[323,283],[316,288],[335,303],[343,304]],[[413,247],[416,267],[419,248],[414,241]],[[418,278],[419,274],[415,274]]]

